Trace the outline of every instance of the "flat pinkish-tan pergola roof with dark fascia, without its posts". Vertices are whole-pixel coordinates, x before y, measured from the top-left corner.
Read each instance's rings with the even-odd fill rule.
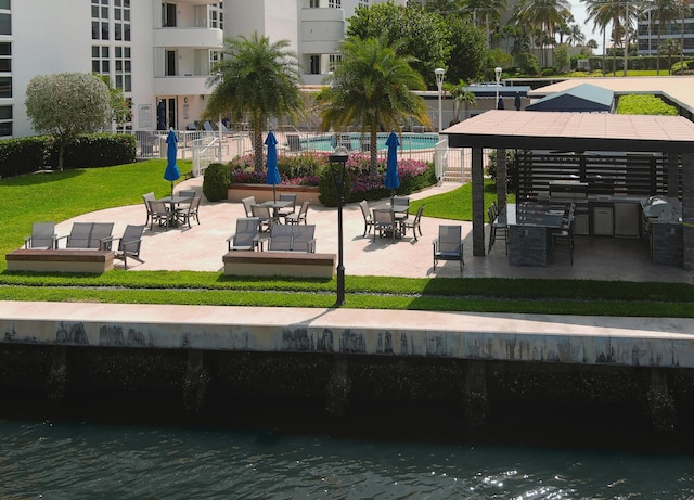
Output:
[[[441,133],[451,148],[694,153],[681,116],[492,110]]]

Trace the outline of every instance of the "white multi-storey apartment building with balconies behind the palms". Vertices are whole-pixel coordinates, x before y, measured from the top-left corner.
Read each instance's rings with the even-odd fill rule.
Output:
[[[35,133],[25,89],[64,72],[107,75],[131,104],[128,127],[184,129],[205,106],[224,37],[254,31],[290,40],[305,84],[320,84],[349,16],[380,1],[0,0],[0,138]]]

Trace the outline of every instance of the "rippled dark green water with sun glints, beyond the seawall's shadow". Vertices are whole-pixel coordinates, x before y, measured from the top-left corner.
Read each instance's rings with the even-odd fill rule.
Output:
[[[0,499],[689,499],[694,460],[0,421]]]

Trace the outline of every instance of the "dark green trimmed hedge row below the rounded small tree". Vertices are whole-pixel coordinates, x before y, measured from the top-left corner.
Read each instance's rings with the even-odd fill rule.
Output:
[[[133,163],[134,136],[95,133],[79,136],[65,148],[63,168],[108,167]],[[0,177],[57,168],[59,148],[50,136],[0,140]]]

